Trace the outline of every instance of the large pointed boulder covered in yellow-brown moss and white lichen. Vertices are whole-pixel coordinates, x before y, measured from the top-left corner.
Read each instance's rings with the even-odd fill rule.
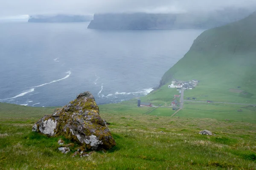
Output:
[[[45,115],[35,123],[32,130],[48,136],[64,136],[90,150],[110,149],[116,145],[89,91],[79,94],[52,115]]]

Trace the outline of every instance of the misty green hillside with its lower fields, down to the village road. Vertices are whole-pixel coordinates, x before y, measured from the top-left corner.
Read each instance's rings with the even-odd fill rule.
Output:
[[[256,103],[255,30],[256,12],[238,22],[204,31],[189,52],[163,75],[162,93],[169,93],[166,85],[172,78],[198,79],[197,90],[186,95],[208,95],[203,100],[219,102]],[[238,86],[243,93],[229,91]]]

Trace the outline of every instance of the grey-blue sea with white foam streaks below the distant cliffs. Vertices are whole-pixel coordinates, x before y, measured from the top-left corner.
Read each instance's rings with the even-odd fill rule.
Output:
[[[143,96],[203,30],[90,30],[88,23],[0,23],[0,102],[62,106]]]

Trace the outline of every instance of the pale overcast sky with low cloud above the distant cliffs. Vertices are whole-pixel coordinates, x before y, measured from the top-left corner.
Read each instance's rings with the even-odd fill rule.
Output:
[[[0,0],[0,17],[26,14],[109,12],[180,13],[225,7],[256,7],[256,0]],[[255,8],[256,10],[256,8]]]

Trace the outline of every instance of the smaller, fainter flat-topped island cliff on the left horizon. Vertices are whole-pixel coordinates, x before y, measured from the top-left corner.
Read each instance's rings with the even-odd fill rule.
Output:
[[[29,23],[75,23],[75,22],[89,22],[92,16],[87,15],[32,15],[29,17]]]

